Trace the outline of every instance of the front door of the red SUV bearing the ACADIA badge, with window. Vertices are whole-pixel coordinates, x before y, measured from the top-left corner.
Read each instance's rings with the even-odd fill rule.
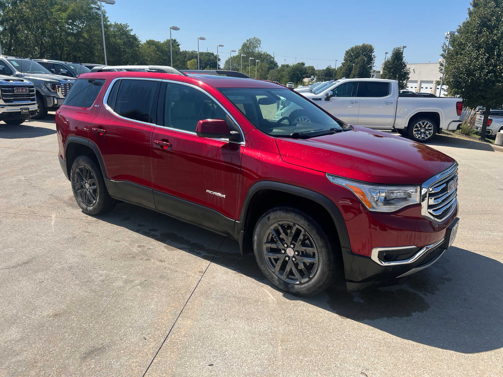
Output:
[[[242,143],[199,137],[202,119],[226,112],[205,92],[168,82],[164,116],[152,136],[153,189],[157,210],[222,233],[236,219]]]

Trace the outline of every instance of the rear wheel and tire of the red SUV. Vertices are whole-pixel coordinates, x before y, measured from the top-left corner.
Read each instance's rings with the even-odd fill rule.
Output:
[[[101,169],[88,156],[78,156],[70,171],[71,190],[78,206],[88,215],[106,213],[116,202],[108,194]]]

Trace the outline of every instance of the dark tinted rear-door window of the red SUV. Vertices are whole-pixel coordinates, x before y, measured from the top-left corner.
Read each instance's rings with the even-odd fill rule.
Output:
[[[122,79],[117,92],[114,111],[129,119],[154,123],[151,113],[157,103],[154,95],[159,81]]]

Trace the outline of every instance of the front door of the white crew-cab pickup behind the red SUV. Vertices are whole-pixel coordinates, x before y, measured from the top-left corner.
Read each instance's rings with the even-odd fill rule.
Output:
[[[357,97],[357,89],[358,82],[343,82],[332,90],[332,96],[322,97],[321,103],[316,104],[343,122],[358,124],[360,99]]]

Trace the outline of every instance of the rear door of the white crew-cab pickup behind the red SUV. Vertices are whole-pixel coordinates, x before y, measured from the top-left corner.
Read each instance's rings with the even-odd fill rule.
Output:
[[[365,81],[358,83],[360,110],[358,125],[369,128],[393,128],[396,99],[398,93],[392,93],[392,85],[387,81]]]

